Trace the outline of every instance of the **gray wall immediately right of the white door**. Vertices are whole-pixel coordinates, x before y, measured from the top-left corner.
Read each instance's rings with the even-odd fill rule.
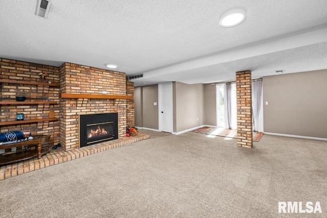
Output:
[[[173,82],[173,131],[204,125],[204,85]],[[197,120],[198,118],[198,120]]]

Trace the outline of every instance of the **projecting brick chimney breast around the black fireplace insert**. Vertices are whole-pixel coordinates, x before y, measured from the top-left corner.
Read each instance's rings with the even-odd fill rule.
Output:
[[[64,63],[59,72],[61,93],[103,94],[102,91],[106,91],[109,95],[134,95],[133,84],[127,84],[123,72],[73,63]],[[66,151],[79,147],[78,114],[87,113],[118,112],[118,137],[124,137],[127,117],[133,120],[133,108],[134,103],[125,99],[60,99],[60,143]]]

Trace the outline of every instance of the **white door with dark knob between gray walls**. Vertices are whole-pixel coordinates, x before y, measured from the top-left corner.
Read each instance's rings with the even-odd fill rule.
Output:
[[[159,125],[162,132],[173,132],[173,84],[159,84]]]

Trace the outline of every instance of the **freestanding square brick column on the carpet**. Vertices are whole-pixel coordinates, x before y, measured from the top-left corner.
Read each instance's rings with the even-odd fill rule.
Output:
[[[251,71],[236,72],[237,146],[252,148]]]

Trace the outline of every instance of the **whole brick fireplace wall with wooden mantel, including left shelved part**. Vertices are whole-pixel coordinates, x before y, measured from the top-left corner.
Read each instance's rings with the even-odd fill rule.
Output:
[[[41,72],[48,74],[45,81],[39,76]],[[26,120],[54,119],[38,123],[2,125],[1,132],[30,130],[32,134],[49,134],[49,146],[60,142],[67,151],[79,147],[79,114],[118,113],[118,138],[125,136],[126,125],[134,125],[134,84],[127,81],[123,72],[73,63],[54,67],[0,58],[0,80],[59,83],[59,86],[47,86],[2,81],[2,101],[8,99],[15,102],[15,96],[22,95],[27,97],[26,102],[53,101],[55,104],[3,106],[0,111],[2,122],[12,122],[17,113],[24,113]],[[67,98],[63,94],[83,95]],[[10,153],[15,151],[0,151],[0,155]]]

